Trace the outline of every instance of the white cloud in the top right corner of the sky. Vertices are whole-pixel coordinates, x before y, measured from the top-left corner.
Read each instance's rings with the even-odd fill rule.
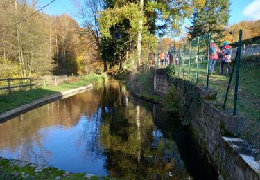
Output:
[[[245,6],[243,15],[252,20],[260,19],[260,0],[254,0],[252,3],[249,3],[248,6]]]

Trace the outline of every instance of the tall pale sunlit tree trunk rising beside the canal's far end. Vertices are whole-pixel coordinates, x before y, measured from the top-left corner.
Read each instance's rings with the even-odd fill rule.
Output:
[[[139,19],[139,33],[137,35],[137,69],[139,69],[141,62],[141,31],[143,29],[144,0],[140,0],[140,13],[141,18]]]

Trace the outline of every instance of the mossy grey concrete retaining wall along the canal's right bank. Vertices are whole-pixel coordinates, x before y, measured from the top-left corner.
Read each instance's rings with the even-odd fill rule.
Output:
[[[175,79],[173,86],[179,100],[187,98],[187,80]],[[194,85],[195,86],[195,85]],[[171,88],[168,84],[165,69],[156,69],[154,89],[162,96]],[[260,179],[260,160],[256,159],[259,150],[240,138],[224,137],[226,134],[240,134],[245,130],[245,119],[239,116],[230,116],[229,112],[221,110],[221,106],[214,100],[216,91],[206,91],[195,87],[189,104],[187,116],[193,134],[202,150],[207,152],[207,159],[218,170],[219,179]],[[225,134],[225,135],[224,135]]]

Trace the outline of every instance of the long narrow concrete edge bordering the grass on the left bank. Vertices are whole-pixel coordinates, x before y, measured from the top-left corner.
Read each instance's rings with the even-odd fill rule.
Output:
[[[14,118],[15,116],[19,116],[20,114],[24,114],[27,111],[31,111],[32,109],[35,109],[35,108],[40,107],[42,105],[46,105],[49,102],[68,98],[69,96],[73,96],[76,93],[84,92],[84,91],[86,91],[87,89],[90,89],[90,88],[92,89],[92,87],[93,87],[93,84],[89,84],[85,87],[78,87],[76,89],[69,89],[67,91],[53,93],[49,96],[44,96],[40,99],[33,100],[32,102],[29,102],[26,105],[21,105],[20,107],[17,107],[15,109],[1,113],[0,114],[0,123],[3,123],[4,121],[9,120],[10,118]]]

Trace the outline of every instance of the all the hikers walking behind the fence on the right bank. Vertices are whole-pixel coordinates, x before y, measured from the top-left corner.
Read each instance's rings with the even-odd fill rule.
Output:
[[[209,75],[214,72],[214,66],[218,60],[220,61],[220,74],[223,74],[224,66],[227,66],[227,73],[230,73],[231,56],[232,46],[230,46],[228,42],[224,42],[220,50],[214,41],[211,40],[209,46]],[[175,57],[175,64],[179,64],[177,51],[175,51],[175,47],[171,45],[167,53],[164,53],[164,51],[159,53],[159,63],[161,65],[173,64],[173,57]]]

